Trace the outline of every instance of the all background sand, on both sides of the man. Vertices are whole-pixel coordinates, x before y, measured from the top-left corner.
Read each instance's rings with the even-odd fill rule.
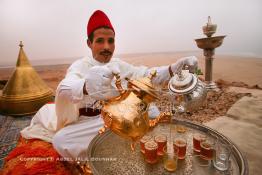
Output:
[[[146,53],[125,54],[118,57],[134,65],[161,66],[176,62],[178,58],[195,55],[199,59],[199,67],[204,73],[204,56],[202,52]],[[229,82],[243,82],[250,86],[262,87],[262,58],[219,55],[214,56],[213,80],[223,79]],[[51,64],[51,62],[50,62]],[[64,78],[69,65],[34,66],[43,80],[56,89]],[[13,69],[0,69],[0,80],[7,80]]]

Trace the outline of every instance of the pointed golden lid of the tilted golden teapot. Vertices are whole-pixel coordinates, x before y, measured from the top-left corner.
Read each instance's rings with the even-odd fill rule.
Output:
[[[142,77],[137,80],[127,79],[128,86],[141,93],[141,95],[146,93],[149,94],[153,99],[158,99],[156,89],[154,88],[151,81],[154,76],[156,76],[156,72],[152,72],[149,77]]]

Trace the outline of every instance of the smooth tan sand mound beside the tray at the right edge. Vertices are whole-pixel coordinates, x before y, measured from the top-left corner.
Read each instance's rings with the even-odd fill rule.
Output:
[[[233,141],[248,160],[249,174],[262,174],[262,91],[241,88],[229,89],[250,93],[229,110],[227,115],[205,123]]]

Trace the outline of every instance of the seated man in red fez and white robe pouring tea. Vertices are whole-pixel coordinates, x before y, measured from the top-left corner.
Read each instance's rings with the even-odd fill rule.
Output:
[[[197,66],[196,57],[181,58],[175,64],[154,68],[136,67],[113,58],[115,30],[100,10],[90,17],[87,35],[92,57],[77,60],[69,67],[57,87],[55,105],[42,107],[31,125],[21,131],[25,138],[52,142],[60,155],[73,161],[87,159],[88,145],[103,126],[99,109],[92,110],[96,102],[119,95],[113,73],[119,73],[124,82],[126,77],[137,79],[156,70],[157,76],[152,81],[161,86],[181,66]],[[157,108],[151,106],[149,115],[155,117],[158,114]]]

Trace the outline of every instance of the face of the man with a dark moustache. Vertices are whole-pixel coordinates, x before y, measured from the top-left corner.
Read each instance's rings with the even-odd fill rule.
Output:
[[[101,63],[108,63],[115,50],[115,34],[108,28],[99,28],[94,31],[93,42],[87,41],[92,50],[93,58]]]

